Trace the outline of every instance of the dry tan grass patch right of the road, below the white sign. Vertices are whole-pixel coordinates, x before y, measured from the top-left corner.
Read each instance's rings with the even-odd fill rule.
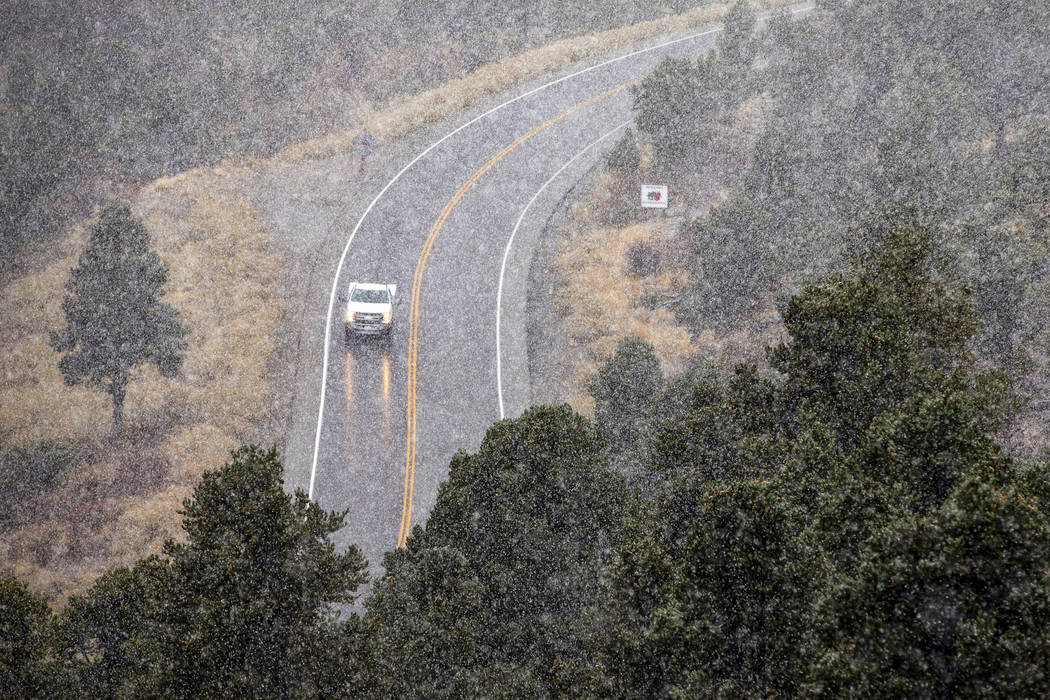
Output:
[[[754,104],[741,111],[749,116]],[[748,127],[754,126],[749,120]],[[729,134],[733,146],[727,153],[737,157],[728,162],[739,169],[752,147],[751,140]],[[642,150],[642,171],[649,169],[652,154]],[[712,168],[714,170],[714,168]],[[724,183],[724,181],[722,181]],[[602,173],[572,206],[565,224],[556,232],[555,275],[559,289],[555,304],[563,316],[563,328],[568,345],[581,358],[569,379],[569,403],[578,411],[591,415],[593,399],[587,386],[598,367],[615,352],[617,343],[629,337],[647,340],[653,346],[665,376],[686,369],[697,361],[706,361],[723,370],[738,362],[764,364],[765,351],[782,338],[783,325],[772,309],[756,314],[740,328],[716,335],[702,331],[691,337],[667,306],[648,309],[639,301],[646,295],[673,299],[685,288],[691,266],[690,243],[679,226],[682,220],[700,213],[724,198],[724,184],[696,187],[685,205],[686,197],[668,210],[672,216],[655,212],[643,214],[643,221],[624,227],[602,224],[612,198],[620,196],[614,177]],[[672,194],[672,196],[674,196]],[[659,274],[636,278],[629,274],[628,251],[638,242],[652,246],[663,261]]]

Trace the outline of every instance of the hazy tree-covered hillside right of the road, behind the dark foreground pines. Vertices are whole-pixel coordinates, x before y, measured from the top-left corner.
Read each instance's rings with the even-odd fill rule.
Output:
[[[670,185],[684,254],[665,259],[686,281],[662,299],[636,284],[610,297],[638,318],[662,301],[694,357],[695,345],[755,327],[751,355],[760,355],[783,300],[807,280],[845,269],[897,228],[925,230],[937,263],[973,292],[974,349],[1010,377],[1021,410],[1004,444],[1045,449],[1050,90],[1035,77],[1050,76],[1036,21],[1050,9],[1026,5],[1035,18],[1026,24],[984,6],[828,3],[762,31],[741,10],[711,56],[660,64],[635,91],[648,157],[603,177],[631,198],[643,179]],[[630,226],[654,216],[625,210],[601,181],[588,196]],[[609,344],[591,356],[608,357]]]

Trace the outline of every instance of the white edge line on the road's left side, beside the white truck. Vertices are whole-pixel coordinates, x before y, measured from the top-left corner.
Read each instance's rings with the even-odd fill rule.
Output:
[[[802,13],[802,12],[807,12],[808,9],[810,9],[810,7],[800,8],[800,9],[793,9],[792,14],[798,14],[798,13]],[[465,124],[463,124],[462,126],[456,128],[455,130],[449,131],[444,136],[442,136],[438,141],[436,141],[433,144],[430,144],[426,148],[426,150],[422,151],[419,155],[417,155],[416,157],[414,157],[408,163],[408,165],[406,165],[405,167],[401,168],[401,170],[399,170],[398,173],[396,175],[394,175],[394,178],[391,179],[391,182],[386,183],[386,185],[383,187],[383,189],[381,189],[379,191],[379,194],[377,194],[375,196],[375,198],[369,204],[368,208],[364,210],[364,213],[361,214],[361,217],[357,220],[357,225],[354,227],[354,230],[351,231],[350,237],[346,239],[346,245],[342,249],[342,255],[339,256],[339,263],[336,266],[335,276],[332,279],[332,292],[329,294],[328,315],[324,318],[324,355],[323,355],[323,360],[321,362],[321,396],[320,396],[319,405],[317,407],[317,429],[316,429],[316,431],[314,433],[314,457],[313,457],[313,461],[312,461],[311,466],[310,466],[310,488],[307,491],[308,497],[310,497],[311,500],[313,500],[313,495],[314,495],[314,480],[317,476],[317,454],[318,454],[318,452],[320,450],[321,423],[323,422],[323,419],[324,419],[324,391],[326,391],[326,388],[328,386],[327,380],[328,380],[328,365],[329,365],[329,345],[331,344],[331,342],[330,342],[330,336],[332,334],[332,311],[335,309],[335,299],[336,299],[336,296],[337,296],[336,293],[337,293],[338,287],[339,287],[339,275],[342,273],[342,266],[343,266],[343,263],[346,260],[346,254],[350,252],[350,245],[354,241],[354,236],[357,235],[357,231],[358,231],[358,229],[361,228],[361,224],[364,222],[364,218],[369,215],[369,212],[372,211],[372,208],[376,205],[376,203],[379,201],[379,198],[381,196],[383,196],[383,194],[386,193],[386,190],[388,190],[394,185],[394,183],[396,183],[398,179],[400,179],[401,175],[403,175],[405,173],[405,171],[408,170],[408,168],[411,168],[412,166],[416,165],[416,163],[418,163],[420,158],[422,158],[424,155],[426,155],[432,150],[434,150],[435,148],[437,148],[439,145],[441,145],[442,143],[444,143],[448,139],[453,137],[454,135],[456,135],[457,133],[459,133],[460,131],[462,131],[463,129],[467,128],[468,126],[470,126],[475,122],[478,122],[478,121],[484,119],[485,116],[488,116],[489,114],[491,114],[491,113],[494,113],[496,111],[499,111],[500,109],[503,109],[507,105],[510,105],[510,104],[512,104],[514,102],[518,102],[519,100],[523,100],[523,99],[527,98],[530,94],[534,94],[536,92],[539,92],[540,90],[545,90],[548,87],[551,87],[552,85],[558,85],[559,83],[563,83],[563,82],[565,82],[565,81],[567,81],[569,79],[575,78],[576,76],[582,76],[583,73],[590,72],[591,70],[595,70],[597,68],[602,68],[604,66],[616,63],[618,61],[625,61],[625,60],[627,60],[627,59],[629,59],[629,58],[631,58],[633,56],[638,56],[639,54],[645,54],[645,52],[648,52],[648,51],[654,51],[657,48],[664,48],[665,46],[671,46],[673,44],[678,44],[678,43],[681,43],[681,42],[685,42],[685,41],[690,41],[690,40],[693,40],[693,39],[699,39],[700,37],[707,37],[709,35],[716,34],[716,33],[721,31],[721,30],[722,30],[722,27],[718,26],[718,27],[714,27],[712,29],[706,29],[704,31],[697,31],[696,34],[691,34],[691,35],[688,35],[686,37],[679,37],[678,39],[672,39],[671,41],[665,41],[662,44],[655,44],[653,46],[647,46],[645,48],[639,48],[637,50],[630,51],[629,54],[624,54],[623,56],[617,56],[614,59],[609,59],[608,61],[603,61],[602,63],[595,63],[592,66],[588,66],[586,68],[582,68],[582,69],[580,69],[580,70],[578,70],[578,71],[575,71],[573,73],[569,73],[568,76],[562,76],[561,78],[559,78],[556,80],[552,80],[549,83],[544,83],[543,85],[540,85],[539,87],[534,87],[531,90],[528,90],[526,92],[522,92],[518,97],[511,98],[511,99],[507,100],[506,102],[492,107],[488,111],[485,111],[485,112],[482,112],[481,114],[478,114],[477,116],[475,116],[474,119],[471,119],[469,122],[466,122]]]

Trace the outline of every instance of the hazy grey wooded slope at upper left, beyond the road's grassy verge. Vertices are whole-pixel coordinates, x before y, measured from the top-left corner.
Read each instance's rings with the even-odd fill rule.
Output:
[[[268,156],[483,66],[693,4],[14,0],[0,28],[0,274],[128,185]],[[529,75],[544,69],[532,58]]]

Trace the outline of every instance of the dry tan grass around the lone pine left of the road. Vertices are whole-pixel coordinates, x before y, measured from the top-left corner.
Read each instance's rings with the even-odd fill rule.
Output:
[[[242,174],[195,170],[158,181],[132,201],[168,264],[165,300],[190,335],[177,378],[136,370],[126,441],[98,437],[111,430],[108,396],[65,386],[48,344],[85,230],[62,241],[60,259],[0,291],[14,321],[0,340],[0,440],[74,439],[90,455],[24,504],[0,544],[4,570],[52,599],[177,537],[178,508],[201,474],[237,444],[262,438],[257,426],[272,405],[267,362],[282,313],[271,281],[281,260],[237,194]]]

